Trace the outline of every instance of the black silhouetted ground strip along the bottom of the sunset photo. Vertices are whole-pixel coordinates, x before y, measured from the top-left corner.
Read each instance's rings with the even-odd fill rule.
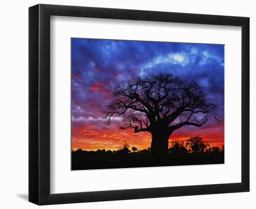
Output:
[[[148,150],[125,151],[85,151],[72,152],[72,170],[137,168],[175,165],[202,165],[224,163],[224,151],[169,153],[166,157],[153,157]]]

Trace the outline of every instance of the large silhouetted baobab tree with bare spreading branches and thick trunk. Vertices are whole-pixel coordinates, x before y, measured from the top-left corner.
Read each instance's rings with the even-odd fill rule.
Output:
[[[216,104],[207,100],[203,88],[172,74],[117,84],[103,115],[107,125],[113,117],[121,117],[120,129],[150,132],[151,153],[156,156],[168,154],[168,140],[175,130],[185,125],[201,127],[209,118],[217,119]]]

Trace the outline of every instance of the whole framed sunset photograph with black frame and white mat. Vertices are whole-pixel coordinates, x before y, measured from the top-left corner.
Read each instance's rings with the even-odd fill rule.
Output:
[[[29,201],[249,191],[249,18],[29,8]]]

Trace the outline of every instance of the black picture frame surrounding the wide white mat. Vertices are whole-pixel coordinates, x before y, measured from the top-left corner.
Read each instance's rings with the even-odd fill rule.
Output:
[[[241,183],[50,194],[50,16],[242,26]],[[29,202],[38,205],[249,191],[249,18],[39,4],[29,8]]]

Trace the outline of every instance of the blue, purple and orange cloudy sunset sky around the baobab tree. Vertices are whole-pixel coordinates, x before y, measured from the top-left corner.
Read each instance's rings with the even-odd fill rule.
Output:
[[[120,130],[118,117],[107,126],[101,112],[116,83],[160,72],[204,86],[207,98],[218,104],[220,120],[184,126],[171,135],[169,145],[199,136],[223,146],[224,45],[72,38],[71,48],[73,150],[118,150],[125,141],[138,150],[150,147],[150,133]]]

